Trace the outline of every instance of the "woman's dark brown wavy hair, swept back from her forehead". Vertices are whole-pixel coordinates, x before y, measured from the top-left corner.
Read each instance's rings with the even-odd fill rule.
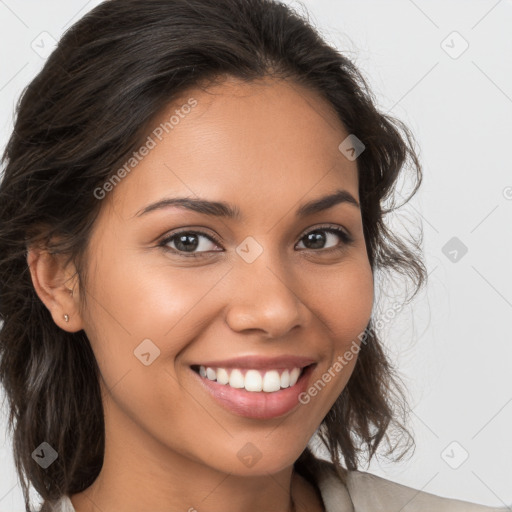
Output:
[[[93,191],[140,147],[174,98],[222,76],[287,78],[322,95],[357,158],[368,258],[375,273],[414,285],[426,278],[421,235],[386,226],[399,176],[422,171],[414,138],[381,113],[365,78],[311,23],[272,0],[108,0],[75,23],[23,90],[2,156],[0,183],[0,381],[9,404],[14,461],[30,512],[30,484],[44,503],[86,489],[103,463],[99,369],[84,331],[60,329],[35,293],[27,247],[73,261],[85,304],[86,250],[101,207]],[[386,201],[391,208],[385,209]],[[372,322],[353,374],[317,431],[340,475],[371,459],[383,440],[401,458],[414,445],[403,384]],[[394,431],[392,437],[390,432]],[[42,441],[58,453],[47,469],[31,457]],[[405,451],[397,455],[402,441]],[[312,481],[306,447],[295,468]],[[44,510],[44,505],[43,505]]]

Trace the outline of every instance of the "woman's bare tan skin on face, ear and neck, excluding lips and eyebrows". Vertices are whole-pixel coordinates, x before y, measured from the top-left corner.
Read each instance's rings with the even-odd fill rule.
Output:
[[[286,512],[291,489],[296,510],[322,510],[292,465],[356,358],[307,405],[270,420],[219,406],[190,365],[302,355],[317,361],[313,383],[364,331],[373,276],[359,208],[341,203],[295,217],[301,204],[340,188],[359,201],[356,161],[338,150],[348,133],[317,93],[271,78],[190,90],[156,124],[190,97],[197,106],[103,199],[83,314],[72,265],[35,248],[28,253],[39,297],[62,329],[85,330],[101,371],[104,464],[72,503],[77,512]],[[229,202],[244,220],[177,207],[135,216],[175,196]],[[322,231],[325,248],[308,249],[305,235],[326,223],[354,241]],[[195,252],[208,254],[198,258],[173,254],[185,252],[177,239],[167,252],[158,247],[181,228],[220,244],[201,236]],[[250,264],[236,252],[248,236],[263,249]],[[134,356],[146,338],[160,350],[149,366]],[[262,454],[252,467],[237,457],[249,442]]]

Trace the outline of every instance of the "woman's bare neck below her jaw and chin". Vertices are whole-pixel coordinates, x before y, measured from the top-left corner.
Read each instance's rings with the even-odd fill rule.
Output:
[[[304,487],[310,484],[294,473],[293,464],[274,473],[236,475],[171,450],[134,423],[121,428],[106,422],[105,435],[98,477],[71,496],[76,512],[308,510]]]

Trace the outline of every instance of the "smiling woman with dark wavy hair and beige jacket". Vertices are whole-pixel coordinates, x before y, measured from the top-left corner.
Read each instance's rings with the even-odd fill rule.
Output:
[[[0,186],[26,510],[30,484],[42,512],[499,510],[358,471],[412,443],[372,315],[377,272],[425,279],[384,223],[406,162],[421,182],[412,140],[279,3],[110,0],[73,26]]]

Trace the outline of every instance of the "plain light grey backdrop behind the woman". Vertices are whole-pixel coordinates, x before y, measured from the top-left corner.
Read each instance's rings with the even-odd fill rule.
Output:
[[[2,149],[15,102],[52,39],[99,3],[0,0]],[[303,6],[365,74],[380,109],[412,129],[425,172],[420,192],[391,220],[398,230],[423,222],[429,283],[385,329],[409,389],[417,447],[401,463],[361,469],[434,494],[511,504],[512,2]],[[0,512],[22,511],[6,432],[0,461]]]

